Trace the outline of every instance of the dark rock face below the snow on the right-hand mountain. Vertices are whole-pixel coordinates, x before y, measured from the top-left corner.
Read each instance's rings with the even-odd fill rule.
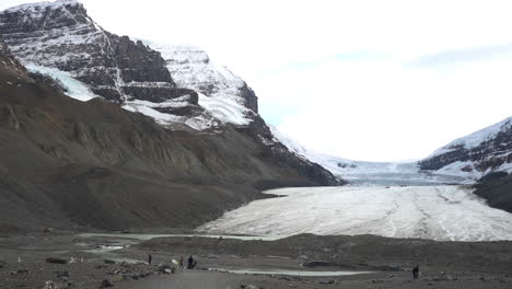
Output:
[[[466,148],[464,142],[449,144],[445,152],[419,162],[421,170],[439,170],[451,163],[472,162],[463,172],[490,172],[512,162],[512,119],[503,122],[500,130],[484,139],[478,146]]]

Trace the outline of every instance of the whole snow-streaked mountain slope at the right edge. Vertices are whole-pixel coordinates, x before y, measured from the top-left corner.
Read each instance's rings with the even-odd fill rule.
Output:
[[[512,117],[458,138],[419,162],[437,174],[480,178],[492,172],[512,172]]]

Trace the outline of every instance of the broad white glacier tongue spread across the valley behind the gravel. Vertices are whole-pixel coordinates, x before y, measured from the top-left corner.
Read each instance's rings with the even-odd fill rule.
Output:
[[[512,213],[461,186],[312,187],[266,192],[198,230],[256,235],[375,234],[439,241],[512,240]]]

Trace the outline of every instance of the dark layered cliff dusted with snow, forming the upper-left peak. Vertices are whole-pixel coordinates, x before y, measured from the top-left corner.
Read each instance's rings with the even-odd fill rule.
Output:
[[[104,31],[73,0],[8,9],[0,13],[0,35],[23,62],[69,71],[106,100],[193,94],[175,90],[160,53]]]

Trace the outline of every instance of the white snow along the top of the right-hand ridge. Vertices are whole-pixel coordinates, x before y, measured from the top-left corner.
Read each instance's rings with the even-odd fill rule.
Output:
[[[455,139],[454,141],[450,142],[449,144],[439,148],[435,150],[432,154],[427,157],[426,159],[430,159],[432,157],[437,157],[450,151],[453,151],[456,146],[464,146],[467,150],[474,149],[478,147],[480,143],[482,143],[486,140],[491,139],[494,137],[498,132],[502,131],[503,129],[512,126],[512,116],[508,117],[494,125],[491,125],[489,127],[482,128],[478,131],[475,131],[470,135],[467,135],[465,137]]]

